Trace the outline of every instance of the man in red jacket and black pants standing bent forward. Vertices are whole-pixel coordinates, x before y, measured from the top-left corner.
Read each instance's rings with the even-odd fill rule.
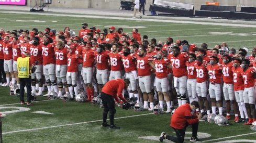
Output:
[[[127,88],[129,84],[130,81],[128,79],[116,79],[110,80],[102,88],[101,98],[104,106],[102,123],[103,127],[109,126],[107,124],[107,113],[109,111],[109,129],[120,129],[120,127],[114,125],[114,115],[116,113],[114,98],[118,103],[120,102],[119,98],[124,102],[127,102],[122,93],[124,88]]]

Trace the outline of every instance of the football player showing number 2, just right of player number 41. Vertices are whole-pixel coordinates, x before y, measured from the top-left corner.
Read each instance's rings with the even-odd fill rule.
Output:
[[[236,117],[234,122],[241,122],[242,120],[243,121],[247,120],[245,122],[248,122],[248,114],[246,111],[246,106],[244,106],[244,102],[243,102],[244,83],[243,83],[243,77],[240,73],[240,70],[241,70],[240,64],[241,63],[242,63],[242,60],[239,58],[236,58],[233,61],[233,67],[232,67],[235,97],[236,97],[236,101],[238,103],[238,108],[239,108],[239,112],[240,112],[240,116],[241,116],[241,120],[239,120],[239,118]],[[246,115],[246,118],[244,118],[244,114]]]

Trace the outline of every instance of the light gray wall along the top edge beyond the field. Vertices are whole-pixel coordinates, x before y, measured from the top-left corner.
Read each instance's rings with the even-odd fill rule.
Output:
[[[29,0],[28,5],[29,5]],[[36,0],[31,0],[33,1]],[[37,0],[41,1],[41,0]],[[46,0],[43,0],[46,1]],[[126,0],[129,1],[129,0]],[[133,0],[134,1],[134,0]],[[200,9],[201,4],[205,4],[207,0],[170,0],[172,2],[190,3],[194,4],[194,9]],[[220,5],[237,6],[237,11],[240,11],[241,6],[254,6],[256,7],[255,0],[208,0],[208,2],[219,2]],[[149,9],[149,5],[152,4],[152,0],[146,0],[146,10]],[[109,9],[115,10],[120,7],[120,0],[52,0],[51,7],[60,8],[96,8],[96,9]]]

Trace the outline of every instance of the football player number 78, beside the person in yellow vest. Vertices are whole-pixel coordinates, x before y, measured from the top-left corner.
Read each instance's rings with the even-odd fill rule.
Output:
[[[28,47],[30,51],[30,60],[31,63],[35,63],[38,61],[38,64],[35,65],[36,70],[34,73],[31,73],[31,84],[32,84],[32,92],[36,93],[36,83],[39,84],[39,92],[36,93],[37,96],[42,95],[42,45],[39,43],[39,37],[33,37],[31,44]]]

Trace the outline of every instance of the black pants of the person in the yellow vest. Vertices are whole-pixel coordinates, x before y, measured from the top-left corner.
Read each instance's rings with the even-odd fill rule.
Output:
[[[19,100],[24,101],[24,87],[27,87],[27,101],[31,101],[31,77],[29,78],[19,78],[20,92]]]

